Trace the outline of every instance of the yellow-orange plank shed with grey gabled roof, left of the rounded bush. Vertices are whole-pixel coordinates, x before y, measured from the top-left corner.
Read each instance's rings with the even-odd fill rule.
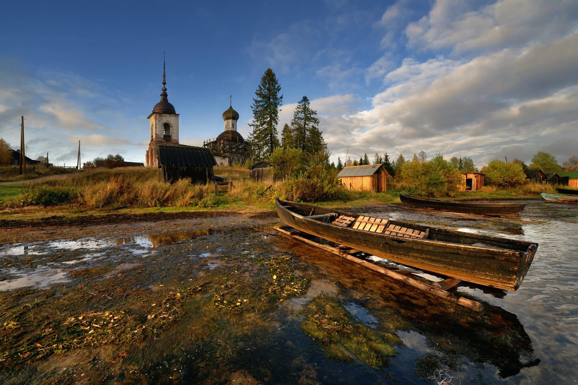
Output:
[[[339,180],[346,190],[386,191],[386,178],[390,174],[382,164],[343,167]]]

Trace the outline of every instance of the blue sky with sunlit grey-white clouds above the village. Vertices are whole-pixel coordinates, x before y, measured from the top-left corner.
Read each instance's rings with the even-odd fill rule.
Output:
[[[332,153],[578,154],[578,1],[8,2],[0,137],[27,156],[144,162],[166,52],[180,142],[202,145],[271,67],[279,132],[309,97]],[[16,127],[16,128],[14,128]]]

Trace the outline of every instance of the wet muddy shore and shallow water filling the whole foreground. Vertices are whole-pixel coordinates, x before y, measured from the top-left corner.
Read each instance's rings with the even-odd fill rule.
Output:
[[[454,289],[483,315],[281,237],[271,213],[12,224],[0,383],[420,384],[436,369],[571,383],[578,213],[527,209],[520,221],[355,209],[540,243],[516,292]]]

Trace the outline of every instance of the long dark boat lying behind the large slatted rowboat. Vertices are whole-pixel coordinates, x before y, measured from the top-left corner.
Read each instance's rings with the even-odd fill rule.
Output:
[[[526,206],[525,203],[442,201],[440,199],[421,198],[403,194],[399,194],[399,200],[407,205],[425,207],[427,209],[437,209],[466,214],[502,215],[509,217],[517,217]]]

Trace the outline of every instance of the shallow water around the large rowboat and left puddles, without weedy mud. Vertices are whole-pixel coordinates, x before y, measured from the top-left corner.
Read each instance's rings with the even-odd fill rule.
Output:
[[[43,290],[56,284],[73,288],[77,282],[72,272],[93,266],[113,267],[95,279],[143,266],[158,267],[154,282],[143,282],[148,287],[162,281],[161,272],[168,266],[183,264],[183,269],[188,269],[187,261],[198,262],[202,274],[212,274],[213,269],[227,268],[231,255],[249,259],[254,255],[289,254],[309,266],[309,291],[287,300],[276,311],[255,315],[255,325],[266,326],[247,334],[231,357],[208,364],[213,373],[243,371],[263,383],[421,384],[432,383],[423,379],[418,369],[420,360],[429,355],[444,357],[441,365],[446,365],[446,358],[450,360],[457,367],[453,375],[462,384],[573,383],[578,381],[578,207],[526,203],[520,218],[461,216],[392,206],[356,209],[396,220],[539,243],[532,266],[516,292],[466,282],[454,289],[484,304],[487,313],[480,318],[461,314],[443,301],[287,240],[272,230],[271,223],[255,222],[232,228],[214,229],[213,223],[210,228],[171,233],[6,244],[0,246],[0,291],[25,286]],[[440,279],[375,256],[363,258],[388,263],[407,274]],[[359,361],[332,360],[303,333],[301,309],[321,294],[335,297],[357,322],[377,330],[393,327],[402,344],[395,348],[396,354],[387,367],[376,370]],[[181,373],[181,379],[192,382],[198,379],[195,360],[208,357],[195,356],[195,346],[183,349],[182,354],[191,360],[180,361],[176,372]],[[169,378],[166,368],[170,364],[147,369],[147,382],[160,383]],[[444,368],[447,366],[439,369]]]

